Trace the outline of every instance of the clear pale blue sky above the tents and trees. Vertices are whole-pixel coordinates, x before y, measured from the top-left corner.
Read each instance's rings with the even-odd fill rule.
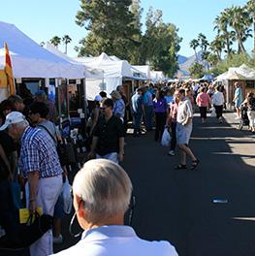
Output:
[[[224,8],[232,5],[244,5],[246,0],[141,0],[143,20],[150,6],[154,10],[163,11],[165,22],[172,22],[179,28],[179,36],[183,38],[179,54],[190,56],[194,52],[189,42],[199,33],[204,33],[211,41],[213,20]],[[75,23],[75,16],[80,10],[79,0],[8,0],[1,3],[1,21],[13,23],[22,32],[37,43],[48,41],[53,36],[69,35],[72,44],[68,53],[75,56],[73,50],[86,34],[84,28]],[[245,47],[252,48],[252,39]],[[63,46],[59,49],[64,50]]]

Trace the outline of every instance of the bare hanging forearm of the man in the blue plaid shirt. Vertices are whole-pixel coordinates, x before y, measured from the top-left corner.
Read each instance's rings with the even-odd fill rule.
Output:
[[[29,211],[35,212],[36,210],[36,198],[39,181],[39,172],[29,172],[27,174],[27,181],[29,186]]]

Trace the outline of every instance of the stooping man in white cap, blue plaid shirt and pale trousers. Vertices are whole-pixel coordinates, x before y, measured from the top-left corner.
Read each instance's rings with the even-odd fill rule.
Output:
[[[31,128],[21,112],[10,112],[0,130],[8,129],[9,135],[21,145],[19,168],[27,179],[26,203],[30,212],[37,207],[53,216],[53,210],[62,187],[62,169],[55,145],[49,135]],[[49,230],[30,246],[31,256],[52,253],[52,233]]]

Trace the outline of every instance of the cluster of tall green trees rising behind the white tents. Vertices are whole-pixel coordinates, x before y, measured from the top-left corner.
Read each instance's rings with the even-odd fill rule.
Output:
[[[174,24],[163,22],[161,11],[148,11],[143,33],[140,0],[80,0],[80,9],[76,22],[89,31],[77,48],[80,56],[104,51],[174,76],[181,39]]]

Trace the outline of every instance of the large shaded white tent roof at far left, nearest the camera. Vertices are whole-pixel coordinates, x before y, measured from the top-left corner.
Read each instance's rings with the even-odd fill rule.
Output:
[[[7,43],[15,78],[84,78],[84,67],[40,47],[15,25],[0,21],[0,65],[5,64]]]

